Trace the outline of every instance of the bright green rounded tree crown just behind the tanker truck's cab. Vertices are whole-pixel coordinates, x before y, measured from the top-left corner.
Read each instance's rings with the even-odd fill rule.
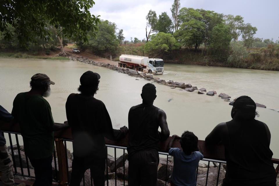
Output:
[[[179,49],[180,44],[169,33],[159,32],[152,35],[151,41],[144,45],[144,53],[148,56],[162,56],[170,53],[171,50]]]

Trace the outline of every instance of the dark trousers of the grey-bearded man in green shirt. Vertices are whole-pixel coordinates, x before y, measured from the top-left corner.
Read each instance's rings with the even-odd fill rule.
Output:
[[[51,186],[52,185],[52,156],[44,159],[30,159],[34,167],[35,182],[33,186]]]

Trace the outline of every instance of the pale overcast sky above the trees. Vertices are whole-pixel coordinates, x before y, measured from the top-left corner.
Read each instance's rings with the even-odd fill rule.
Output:
[[[90,9],[101,19],[115,22],[123,29],[125,40],[130,37],[145,38],[146,15],[150,9],[157,17],[167,12],[171,18],[173,0],[95,0]],[[245,23],[257,27],[255,37],[278,40],[279,37],[279,0],[180,0],[181,8],[199,8],[218,13],[241,15]],[[239,38],[241,39],[241,38]]]

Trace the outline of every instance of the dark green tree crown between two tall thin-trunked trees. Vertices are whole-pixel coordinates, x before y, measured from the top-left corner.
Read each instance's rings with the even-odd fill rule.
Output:
[[[171,22],[171,19],[167,15],[167,12],[162,12],[162,14],[159,15],[159,19],[155,25],[155,29],[158,32],[173,33],[174,26]]]

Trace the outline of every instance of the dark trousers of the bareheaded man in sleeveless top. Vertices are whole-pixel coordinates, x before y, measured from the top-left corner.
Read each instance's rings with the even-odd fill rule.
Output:
[[[159,154],[156,150],[139,151],[128,158],[129,185],[156,186]]]

